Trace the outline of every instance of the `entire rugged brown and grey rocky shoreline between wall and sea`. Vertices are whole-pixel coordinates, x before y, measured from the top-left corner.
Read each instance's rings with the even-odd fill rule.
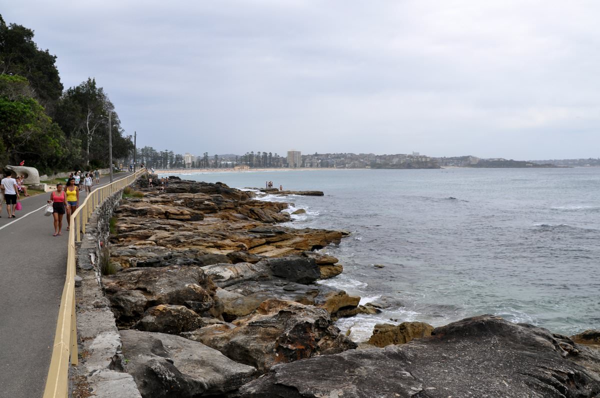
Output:
[[[571,338],[482,315],[381,324],[358,344],[334,319],[377,304],[315,283],[343,272],[319,249],[346,232],[278,225],[286,203],[221,183],[136,189],[115,212],[116,273],[102,284],[122,340],[110,367],[142,397],[600,394],[595,331]]]

